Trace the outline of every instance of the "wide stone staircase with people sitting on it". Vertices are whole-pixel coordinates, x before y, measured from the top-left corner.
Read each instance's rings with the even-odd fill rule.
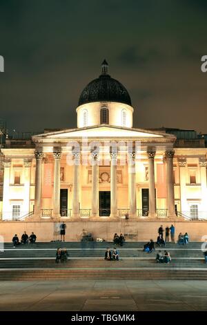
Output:
[[[155,252],[143,252],[144,243],[124,243],[119,250],[119,261],[103,259],[106,248],[113,243],[51,242],[4,245],[0,252],[0,281],[46,279],[202,279],[207,280],[207,266],[201,243],[177,245],[166,243]],[[66,263],[55,263],[57,248],[67,248]],[[169,264],[155,261],[158,250],[170,252]]]

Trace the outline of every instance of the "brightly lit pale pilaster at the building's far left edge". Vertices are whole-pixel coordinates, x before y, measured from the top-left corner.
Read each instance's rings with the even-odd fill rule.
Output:
[[[3,162],[3,209],[2,219],[12,219],[12,208],[10,207],[10,160],[4,160]]]

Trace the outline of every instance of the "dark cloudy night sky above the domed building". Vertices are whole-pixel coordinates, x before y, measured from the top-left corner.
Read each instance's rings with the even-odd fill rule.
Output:
[[[0,118],[9,129],[76,127],[104,58],[134,127],[207,133],[206,0],[0,0]]]

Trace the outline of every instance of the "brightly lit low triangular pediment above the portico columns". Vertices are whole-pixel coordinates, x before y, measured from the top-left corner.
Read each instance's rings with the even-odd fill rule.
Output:
[[[171,134],[148,131],[145,129],[134,129],[125,127],[114,127],[100,125],[97,127],[85,127],[80,129],[64,129],[61,131],[43,133],[34,136],[34,139],[66,139],[66,138],[171,138]]]

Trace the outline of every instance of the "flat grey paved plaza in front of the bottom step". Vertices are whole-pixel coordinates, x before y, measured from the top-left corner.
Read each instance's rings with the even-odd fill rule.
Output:
[[[0,310],[207,310],[207,281],[0,281]]]

